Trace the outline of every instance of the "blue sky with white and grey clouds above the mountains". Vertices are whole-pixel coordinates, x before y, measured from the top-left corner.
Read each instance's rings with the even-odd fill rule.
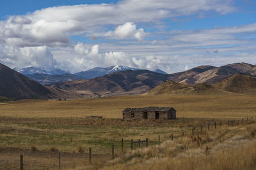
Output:
[[[256,1],[3,0],[0,62],[70,73],[256,64]]]

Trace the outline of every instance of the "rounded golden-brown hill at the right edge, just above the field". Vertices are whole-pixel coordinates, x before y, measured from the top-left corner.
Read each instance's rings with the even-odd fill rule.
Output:
[[[216,83],[214,87],[228,92],[255,95],[256,77],[245,74],[235,74],[234,76],[230,76]]]

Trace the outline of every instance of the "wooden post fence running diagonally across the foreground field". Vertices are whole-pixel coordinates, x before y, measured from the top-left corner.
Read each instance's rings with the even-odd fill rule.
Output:
[[[245,121],[246,120],[246,121]],[[200,124],[198,125],[197,127],[191,127],[191,134],[188,133],[188,134],[185,134],[184,131],[182,131],[182,133],[179,135],[177,134],[176,136],[172,134],[170,134],[170,140],[173,141],[175,138],[180,138],[180,137],[184,137],[185,135],[189,136],[191,135],[192,137],[196,134],[196,132],[198,133],[198,129],[200,129],[200,133],[202,132],[207,132],[207,131],[210,131],[211,128],[214,128],[217,129],[218,126],[223,126],[223,124],[226,125],[229,125],[229,126],[232,126],[232,125],[239,125],[239,124],[251,124],[251,123],[255,123],[253,122],[253,117],[251,118],[246,118],[246,119],[241,119],[241,120],[226,120],[223,122],[223,120],[220,120],[220,122],[214,122],[213,124],[210,124],[210,123],[203,123],[203,124]],[[207,128],[207,130],[204,130],[204,128]],[[121,152],[124,153],[124,139],[122,138],[121,140]],[[163,142],[163,141],[162,141]],[[145,140],[140,140],[138,139],[138,141],[134,140],[134,139],[131,139],[131,150],[134,150],[134,148],[143,148],[144,146],[145,147],[148,147],[148,144],[149,144],[149,140],[148,138],[146,138]],[[158,135],[158,145],[161,144],[161,136]],[[156,145],[156,143],[154,143],[154,145]],[[92,163],[92,148],[88,148],[89,149],[89,152],[88,152],[88,159],[89,159],[89,162]],[[61,153],[58,154],[59,155],[59,169],[61,169]],[[115,146],[112,144],[112,150],[111,150],[111,159],[115,159]],[[24,157],[23,155],[20,155],[20,169],[23,170],[24,168]]]

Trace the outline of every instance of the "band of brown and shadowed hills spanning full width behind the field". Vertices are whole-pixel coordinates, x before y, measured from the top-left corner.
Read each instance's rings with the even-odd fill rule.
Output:
[[[221,67],[198,66],[173,74],[142,69],[116,71],[119,68],[112,67],[109,71],[112,70],[113,73],[88,80],[77,75],[61,74],[65,78],[70,76],[70,79],[66,80],[72,80],[72,78],[79,80],[53,83],[49,87],[3,64],[0,66],[0,96],[22,99],[120,96],[144,94],[148,91],[145,95],[256,94],[256,66],[246,63],[228,64]],[[48,74],[39,75],[44,75],[45,80],[50,79],[47,77]],[[51,75],[51,78],[53,76]],[[52,82],[59,81],[58,76],[60,75],[56,75]]]

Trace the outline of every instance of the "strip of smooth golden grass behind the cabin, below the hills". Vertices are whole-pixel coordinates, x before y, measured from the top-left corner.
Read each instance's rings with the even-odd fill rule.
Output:
[[[256,116],[255,96],[118,96],[72,101],[19,101],[0,105],[6,117],[122,118],[125,108],[172,106],[177,117],[241,118]]]

